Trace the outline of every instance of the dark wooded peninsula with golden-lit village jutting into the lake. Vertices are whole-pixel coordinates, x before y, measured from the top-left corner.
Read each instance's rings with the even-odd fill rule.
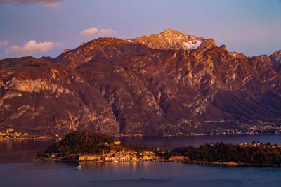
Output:
[[[164,150],[132,146],[107,134],[73,131],[63,141],[53,143],[38,157],[43,160],[73,162],[184,162],[206,165],[281,166],[281,146],[270,143],[205,144]]]

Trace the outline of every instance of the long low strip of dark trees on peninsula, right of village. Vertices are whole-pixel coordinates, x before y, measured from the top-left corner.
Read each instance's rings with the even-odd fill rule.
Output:
[[[195,148],[193,146],[175,148],[164,157],[171,155],[187,156],[197,162],[236,162],[254,165],[281,165],[281,148],[277,145],[251,143],[242,146],[231,143],[206,144]]]

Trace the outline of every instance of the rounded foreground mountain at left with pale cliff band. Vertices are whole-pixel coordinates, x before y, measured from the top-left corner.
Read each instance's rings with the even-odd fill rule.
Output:
[[[40,134],[119,133],[110,105],[74,70],[32,57],[0,64],[1,124]]]

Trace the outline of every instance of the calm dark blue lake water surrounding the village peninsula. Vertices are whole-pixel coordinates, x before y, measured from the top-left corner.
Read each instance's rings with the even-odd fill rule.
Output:
[[[281,144],[281,135],[122,138],[175,148],[217,141]],[[280,167],[218,167],[169,162],[78,163],[33,160],[53,141],[0,141],[0,186],[281,186]]]

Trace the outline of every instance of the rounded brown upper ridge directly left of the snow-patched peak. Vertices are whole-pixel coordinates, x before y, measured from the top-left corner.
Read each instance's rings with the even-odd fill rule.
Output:
[[[132,44],[126,39],[105,37],[83,43],[77,49],[64,52],[60,56],[51,59],[51,61],[75,68],[84,63],[94,62],[101,57],[108,57],[116,62],[122,62],[136,56],[157,52],[159,50],[148,49],[142,44]]]

